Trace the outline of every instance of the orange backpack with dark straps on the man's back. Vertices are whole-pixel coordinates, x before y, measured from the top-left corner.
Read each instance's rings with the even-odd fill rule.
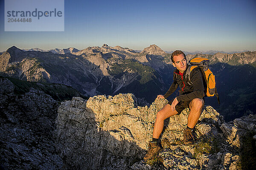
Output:
[[[205,96],[217,96],[218,103],[220,104],[220,99],[218,97],[218,92],[216,89],[215,83],[215,76],[209,69],[209,62],[210,60],[204,57],[195,57],[189,60],[189,68],[186,71],[186,77],[188,78],[188,84],[191,83],[190,80],[190,72],[194,69],[199,67],[202,75],[203,75],[203,82],[204,82],[204,94]]]

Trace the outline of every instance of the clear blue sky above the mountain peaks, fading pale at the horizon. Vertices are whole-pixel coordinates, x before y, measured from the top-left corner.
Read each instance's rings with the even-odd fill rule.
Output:
[[[22,0],[20,1],[22,2]],[[65,0],[65,31],[4,31],[0,51],[120,45],[164,51],[256,50],[256,0]]]

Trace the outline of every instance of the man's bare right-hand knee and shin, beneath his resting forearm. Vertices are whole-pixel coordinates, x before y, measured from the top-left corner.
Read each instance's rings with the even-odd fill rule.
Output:
[[[190,102],[189,104],[190,113],[188,116],[189,128],[195,127],[199,117],[201,116],[203,106],[204,106],[204,100],[200,98],[195,98]]]

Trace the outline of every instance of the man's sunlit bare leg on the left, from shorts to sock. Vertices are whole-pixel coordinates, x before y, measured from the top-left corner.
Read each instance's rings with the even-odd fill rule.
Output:
[[[166,104],[160,111],[157,112],[157,119],[154,124],[153,138],[159,138],[163,131],[163,122],[165,119],[177,114],[177,111],[171,110],[171,105]]]

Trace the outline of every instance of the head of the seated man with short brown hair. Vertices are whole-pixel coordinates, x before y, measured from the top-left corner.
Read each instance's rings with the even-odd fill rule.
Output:
[[[172,56],[172,65],[176,67],[181,73],[186,70],[187,62],[186,62],[186,55],[180,51],[176,50],[173,51]]]

